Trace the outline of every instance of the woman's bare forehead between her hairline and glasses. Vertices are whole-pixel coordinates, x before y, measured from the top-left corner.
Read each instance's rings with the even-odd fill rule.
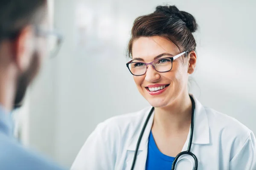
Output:
[[[151,59],[159,54],[179,54],[177,46],[165,37],[140,37],[134,40],[132,45],[132,57]]]

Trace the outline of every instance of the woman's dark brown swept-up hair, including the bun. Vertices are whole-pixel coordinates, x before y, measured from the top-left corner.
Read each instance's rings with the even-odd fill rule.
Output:
[[[153,13],[135,19],[128,57],[132,57],[133,41],[140,37],[161,36],[172,41],[180,51],[195,50],[196,42],[192,33],[197,27],[195,18],[176,6],[157,6]]]

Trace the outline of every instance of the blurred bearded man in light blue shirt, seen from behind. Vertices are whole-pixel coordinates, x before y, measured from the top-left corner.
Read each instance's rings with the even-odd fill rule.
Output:
[[[47,0],[0,0],[0,170],[61,170],[17,142],[10,116],[47,55],[47,37],[60,41],[46,15]]]

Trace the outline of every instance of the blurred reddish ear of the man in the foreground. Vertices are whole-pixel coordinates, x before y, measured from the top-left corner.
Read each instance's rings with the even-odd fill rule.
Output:
[[[32,55],[35,51],[34,29],[32,26],[26,26],[18,34],[15,40],[14,59],[17,68],[20,71],[25,71],[29,67]]]

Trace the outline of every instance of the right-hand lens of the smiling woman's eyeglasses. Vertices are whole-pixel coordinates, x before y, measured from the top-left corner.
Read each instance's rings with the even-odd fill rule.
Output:
[[[166,72],[172,69],[172,60],[169,58],[157,59],[152,65],[154,65],[156,71]]]

